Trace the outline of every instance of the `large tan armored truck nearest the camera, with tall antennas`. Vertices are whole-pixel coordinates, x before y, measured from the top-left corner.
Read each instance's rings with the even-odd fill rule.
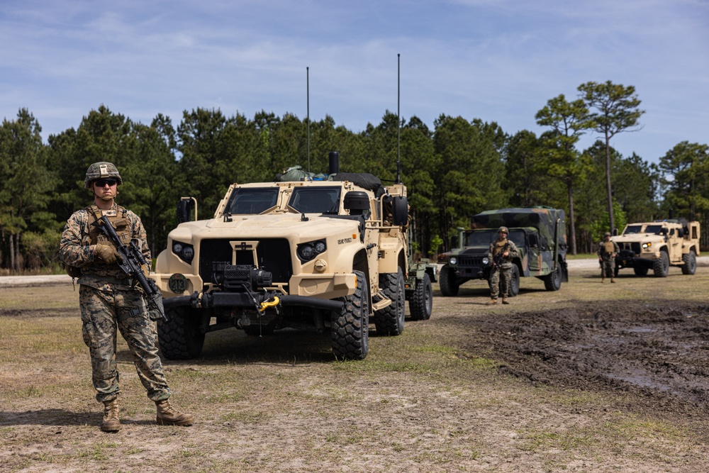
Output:
[[[361,360],[370,318],[377,334],[402,332],[406,187],[337,168],[331,156],[331,180],[233,184],[208,220],[191,221],[194,199],[182,199],[152,274],[169,319],[158,327],[165,357],[198,356],[213,330],[309,328],[330,333],[336,357]],[[430,294],[409,296],[412,313],[430,311]]]

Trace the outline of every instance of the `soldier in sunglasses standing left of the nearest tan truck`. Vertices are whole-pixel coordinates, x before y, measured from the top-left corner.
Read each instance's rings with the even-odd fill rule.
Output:
[[[121,175],[110,162],[96,162],[86,170],[84,187],[91,190],[94,204],[69,217],[62,233],[60,258],[72,277],[79,277],[79,306],[82,333],[89,347],[96,400],[104,404],[101,430],[121,429],[118,417],[118,371],[116,370],[116,328],[133,354],[140,382],[157,406],[160,425],[191,425],[189,414],[179,413],[170,404],[171,391],[157,355],[155,321],[147,310],[142,288],[127,278],[116,263],[121,258],[113,243],[101,233],[96,221],[108,218],[123,245],[137,243],[150,261],[145,228],[135,213],[116,205]],[[149,268],[145,268],[145,273]]]

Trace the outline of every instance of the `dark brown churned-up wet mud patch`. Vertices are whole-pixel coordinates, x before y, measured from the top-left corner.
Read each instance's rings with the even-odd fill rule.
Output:
[[[598,303],[474,325],[465,349],[532,383],[637,394],[634,407],[652,411],[691,416],[709,407],[709,306]]]

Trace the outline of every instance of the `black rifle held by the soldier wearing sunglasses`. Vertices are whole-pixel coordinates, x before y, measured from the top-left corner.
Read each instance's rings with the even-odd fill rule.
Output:
[[[123,245],[121,238],[118,238],[116,228],[113,228],[111,221],[108,220],[106,216],[101,216],[101,218],[96,220],[96,225],[99,226],[99,229],[104,235],[113,240],[118,246],[118,255],[120,258],[116,263],[123,269],[126,276],[138,279],[140,287],[145,291],[145,301],[147,302],[148,310],[152,313],[159,313],[162,320],[167,322],[165,309],[162,306],[162,293],[160,289],[157,289],[155,281],[145,277],[141,266],[147,266],[147,260],[145,260],[145,256],[143,256],[143,252],[140,251],[138,245],[135,244],[135,241],[131,241],[130,245]]]

